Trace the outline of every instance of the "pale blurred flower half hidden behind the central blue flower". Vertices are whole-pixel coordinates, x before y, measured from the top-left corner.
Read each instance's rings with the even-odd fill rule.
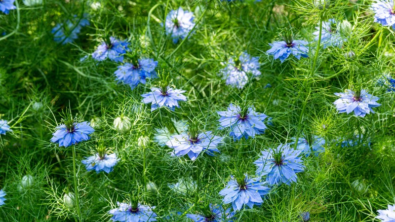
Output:
[[[172,126],[170,128],[155,128],[154,141],[159,145],[164,146],[166,142],[171,139],[171,136],[181,134],[187,130],[186,123],[182,120],[177,121],[175,119],[171,120]]]

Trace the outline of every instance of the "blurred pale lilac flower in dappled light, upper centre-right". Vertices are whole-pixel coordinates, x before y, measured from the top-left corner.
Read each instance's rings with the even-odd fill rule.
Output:
[[[258,57],[253,57],[245,52],[237,58],[229,58],[225,68],[219,71],[226,85],[242,89],[248,82],[249,75],[256,77],[261,75]]]

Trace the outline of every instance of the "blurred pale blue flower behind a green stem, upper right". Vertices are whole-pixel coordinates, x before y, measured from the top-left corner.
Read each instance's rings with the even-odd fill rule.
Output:
[[[313,32],[313,35],[315,35],[314,41],[318,41],[320,38],[320,26],[315,27],[315,29],[317,31]],[[322,23],[321,43],[324,44],[324,49],[330,46],[342,47],[343,43],[347,41],[341,35],[339,29],[340,23],[334,19],[328,19],[327,22]]]

